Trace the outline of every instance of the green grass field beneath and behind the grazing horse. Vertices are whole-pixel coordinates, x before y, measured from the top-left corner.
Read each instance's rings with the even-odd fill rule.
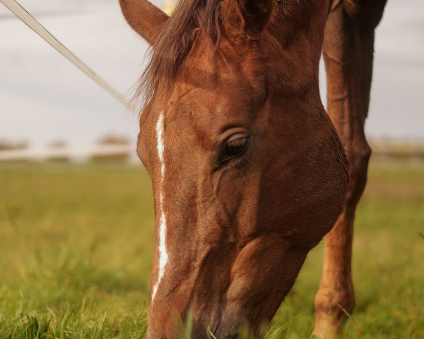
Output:
[[[357,307],[343,338],[424,338],[424,167],[372,165],[355,228]],[[308,338],[311,252],[267,338]],[[146,172],[0,164],[0,338],[142,338],[153,253]]]

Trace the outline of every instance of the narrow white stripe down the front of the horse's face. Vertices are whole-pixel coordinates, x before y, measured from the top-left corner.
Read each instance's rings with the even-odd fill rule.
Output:
[[[152,303],[155,299],[156,292],[160,280],[162,280],[165,273],[165,266],[167,264],[168,255],[166,249],[166,215],[163,208],[163,183],[165,181],[165,161],[163,160],[163,153],[165,150],[165,144],[163,142],[163,112],[160,112],[158,121],[156,121],[156,143],[158,145],[158,156],[160,161],[160,186],[159,186],[159,210],[160,210],[160,224],[159,224],[159,272],[158,280],[156,280],[153,286]]]

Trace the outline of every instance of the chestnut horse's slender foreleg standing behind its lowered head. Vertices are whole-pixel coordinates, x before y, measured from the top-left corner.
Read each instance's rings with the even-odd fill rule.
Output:
[[[324,37],[328,113],[350,162],[343,212],[326,235],[324,267],[315,297],[314,335],[336,336],[355,307],[351,277],[355,208],[367,181],[370,147],[364,133],[372,78],[375,27],[385,0],[345,1],[329,14]]]

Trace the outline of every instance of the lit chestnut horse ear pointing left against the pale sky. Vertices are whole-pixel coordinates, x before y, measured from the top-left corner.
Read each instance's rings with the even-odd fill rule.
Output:
[[[119,4],[131,28],[154,44],[168,16],[147,0],[119,0]]]

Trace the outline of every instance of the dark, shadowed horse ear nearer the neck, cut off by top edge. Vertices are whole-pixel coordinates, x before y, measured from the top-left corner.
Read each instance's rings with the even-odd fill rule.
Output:
[[[273,0],[223,0],[223,24],[228,35],[259,35],[271,16]]]

